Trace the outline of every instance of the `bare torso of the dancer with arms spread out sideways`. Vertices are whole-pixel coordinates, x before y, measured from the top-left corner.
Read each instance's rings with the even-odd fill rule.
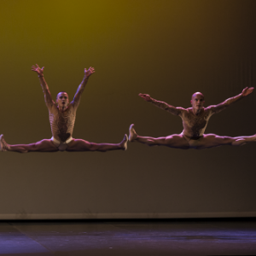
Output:
[[[183,109],[179,114],[183,120],[183,135],[189,138],[202,137],[206,131],[208,121],[212,116],[212,110],[202,108],[201,113],[195,115],[192,108]]]

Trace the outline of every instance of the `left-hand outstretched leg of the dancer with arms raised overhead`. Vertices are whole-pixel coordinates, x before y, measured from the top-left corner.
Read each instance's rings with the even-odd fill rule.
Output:
[[[51,140],[44,139],[38,143],[9,145],[4,141],[3,134],[0,136],[0,151],[27,152],[55,152],[59,149]]]

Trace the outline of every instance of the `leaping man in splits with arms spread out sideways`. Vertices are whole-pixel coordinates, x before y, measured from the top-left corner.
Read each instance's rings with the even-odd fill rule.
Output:
[[[195,92],[191,98],[192,108],[175,108],[166,102],[159,102],[151,98],[147,94],[139,94],[145,101],[153,103],[154,106],[162,108],[174,115],[178,115],[183,120],[183,132],[181,134],[173,134],[167,137],[142,137],[138,136],[134,130],[134,125],[130,126],[130,142],[145,143],[149,146],[167,146],[170,148],[213,148],[222,145],[241,146],[246,143],[256,142],[256,135],[242,137],[221,137],[215,134],[204,134],[207,123],[213,113],[219,113],[230,104],[241,100],[241,98],[253,92],[253,87],[245,88],[241,94],[231,97],[224,102],[204,108],[204,96],[201,92]]]

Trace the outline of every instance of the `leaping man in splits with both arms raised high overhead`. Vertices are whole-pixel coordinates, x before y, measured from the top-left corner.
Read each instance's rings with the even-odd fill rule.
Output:
[[[3,134],[0,136],[1,151],[15,151],[20,153],[38,151],[38,152],[54,152],[54,151],[107,151],[113,149],[127,148],[128,137],[125,134],[124,139],[118,144],[108,143],[89,143],[82,139],[74,139],[73,126],[76,118],[76,112],[79,107],[79,102],[84,91],[84,87],[91,74],[95,73],[93,67],[88,70],[84,68],[84,79],[79,85],[79,88],[73,97],[72,102],[68,102],[67,92],[61,91],[58,93],[56,102],[52,100],[49,93],[49,87],[44,80],[44,67],[40,68],[38,64],[32,66],[32,71],[38,73],[38,78],[44,92],[44,100],[49,109],[49,124],[51,127],[51,139],[44,139],[38,143],[9,145],[3,139]]]

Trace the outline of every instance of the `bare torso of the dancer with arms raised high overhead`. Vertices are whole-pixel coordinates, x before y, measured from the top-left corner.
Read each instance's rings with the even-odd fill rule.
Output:
[[[76,108],[70,104],[65,111],[59,110],[56,105],[48,107],[49,124],[52,136],[58,141],[66,142],[73,134],[73,126],[76,119]]]

